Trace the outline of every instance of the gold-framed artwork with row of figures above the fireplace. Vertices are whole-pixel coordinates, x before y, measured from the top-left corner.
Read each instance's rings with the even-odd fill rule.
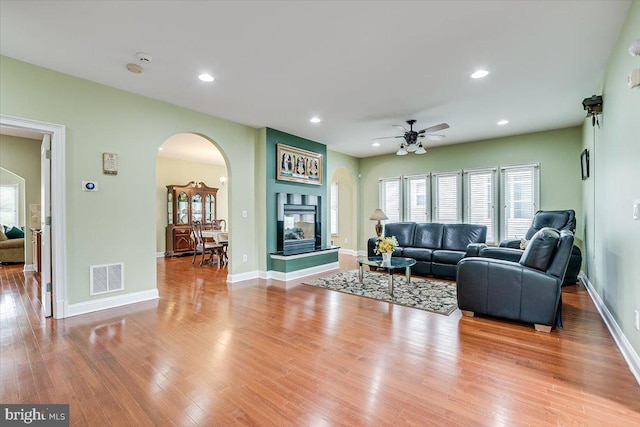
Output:
[[[322,185],[322,154],[277,144],[276,179]]]

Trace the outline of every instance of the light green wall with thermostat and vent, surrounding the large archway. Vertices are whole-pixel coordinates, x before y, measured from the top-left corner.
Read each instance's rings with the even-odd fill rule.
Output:
[[[158,147],[176,133],[200,134],[223,153],[233,202],[230,274],[257,270],[256,129],[6,56],[0,56],[0,93],[0,113],[66,126],[63,262],[69,304],[101,297],[89,295],[92,265],[124,262],[121,293],[156,288],[156,158]],[[118,175],[102,174],[103,152],[119,155]],[[100,191],[82,192],[83,180],[98,181]]]

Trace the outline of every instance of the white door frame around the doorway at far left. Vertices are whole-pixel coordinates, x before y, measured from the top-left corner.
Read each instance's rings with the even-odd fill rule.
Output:
[[[0,126],[34,130],[51,135],[51,267],[53,279],[53,317],[67,317],[67,244],[65,143],[66,128],[55,123],[0,115]]]

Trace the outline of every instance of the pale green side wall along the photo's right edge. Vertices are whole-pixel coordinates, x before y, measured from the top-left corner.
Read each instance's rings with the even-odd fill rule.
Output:
[[[611,53],[601,88],[600,128],[586,120],[582,144],[590,150],[592,176],[582,183],[582,227],[586,272],[620,329],[640,354],[640,331],[633,326],[640,311],[640,88],[629,89],[627,76],[640,68],[628,49],[640,38],[640,2],[634,1]],[[586,93],[585,96],[591,94]]]

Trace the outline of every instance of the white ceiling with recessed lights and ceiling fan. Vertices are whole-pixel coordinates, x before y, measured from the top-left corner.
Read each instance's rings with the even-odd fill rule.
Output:
[[[580,124],[630,4],[3,0],[0,53],[366,157],[406,119],[451,125],[427,148]]]

